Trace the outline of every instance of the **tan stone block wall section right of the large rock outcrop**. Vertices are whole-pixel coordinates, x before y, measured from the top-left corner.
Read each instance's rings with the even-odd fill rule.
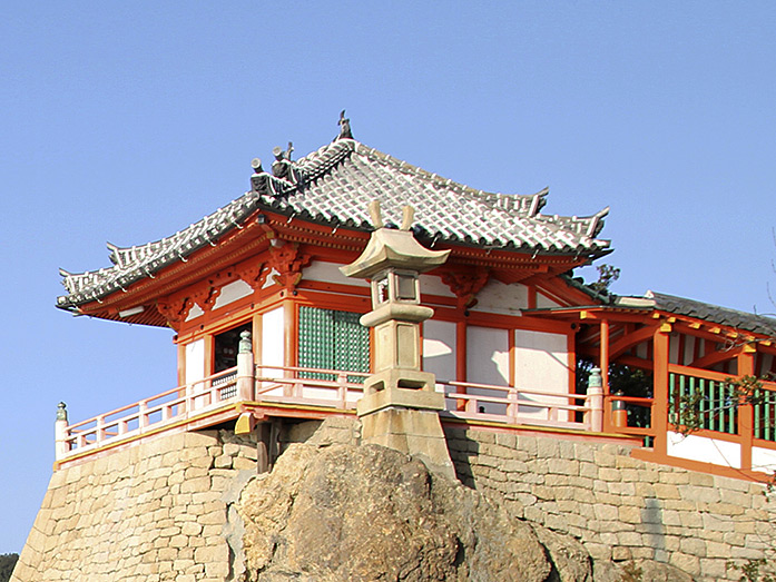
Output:
[[[760,484],[639,461],[615,444],[445,433],[464,484],[573,535],[593,559],[668,562],[707,582],[738,580],[729,560],[773,559],[776,500]]]

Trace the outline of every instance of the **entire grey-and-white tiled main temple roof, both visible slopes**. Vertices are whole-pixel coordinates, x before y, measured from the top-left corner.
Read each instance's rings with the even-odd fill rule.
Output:
[[[399,220],[403,206],[414,206],[413,229],[425,240],[587,257],[606,254],[609,246],[596,238],[608,208],[589,217],[542,215],[547,190],[523,196],[484,193],[352,139],[338,139],[293,161],[286,178],[261,171],[251,181],[252,191],[173,236],[137,247],[108,245],[111,267],[81,274],[61,270],[68,294],[57,305],[73,308],[150,277],[215,244],[256,209],[372,230],[367,205],[379,198],[389,219]]]

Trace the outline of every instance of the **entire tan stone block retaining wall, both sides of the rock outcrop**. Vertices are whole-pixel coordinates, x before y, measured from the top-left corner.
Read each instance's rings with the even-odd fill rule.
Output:
[[[320,425],[285,425],[283,447],[357,440],[355,418]],[[776,545],[776,501],[762,485],[638,461],[627,446],[445,433],[464,484],[573,535],[593,559],[737,580],[728,560]],[[229,582],[242,572],[243,532],[228,507],[255,471],[255,441],[229,431],[163,436],[57,471],[11,580]]]

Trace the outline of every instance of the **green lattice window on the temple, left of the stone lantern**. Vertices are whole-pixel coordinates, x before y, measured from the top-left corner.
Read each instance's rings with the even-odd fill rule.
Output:
[[[361,314],[299,307],[299,367],[370,371],[370,332]],[[335,379],[332,374],[307,374]],[[348,376],[348,382],[360,378]]]

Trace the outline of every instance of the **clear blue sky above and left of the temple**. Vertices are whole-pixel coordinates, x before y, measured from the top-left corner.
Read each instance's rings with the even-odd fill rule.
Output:
[[[301,6],[299,6],[301,4]],[[0,553],[21,550],[71,421],[175,384],[170,331],[53,307],[337,132],[547,214],[610,206],[647,289],[776,310],[776,3],[19,2],[0,19]]]

